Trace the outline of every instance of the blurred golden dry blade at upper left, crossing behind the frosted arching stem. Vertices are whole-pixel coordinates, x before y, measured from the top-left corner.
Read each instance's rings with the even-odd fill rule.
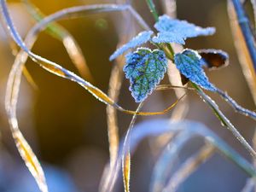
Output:
[[[25,3],[26,8],[35,20],[39,22],[40,20],[44,19],[44,14],[41,13],[41,11],[30,1],[22,1]],[[83,52],[73,36],[69,32],[67,32],[64,27],[57,23],[50,23],[45,30],[52,37],[59,39],[63,43],[64,47],[67,49],[67,54],[73,61],[75,67],[77,67],[77,69],[79,70],[81,76],[85,79],[89,79],[90,81],[92,81],[90,69],[85,61]]]

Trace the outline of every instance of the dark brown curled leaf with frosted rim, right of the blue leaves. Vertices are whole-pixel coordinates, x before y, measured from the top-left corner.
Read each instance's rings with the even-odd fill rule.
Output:
[[[209,69],[217,69],[229,65],[229,55],[220,49],[200,49],[197,50],[201,59]]]

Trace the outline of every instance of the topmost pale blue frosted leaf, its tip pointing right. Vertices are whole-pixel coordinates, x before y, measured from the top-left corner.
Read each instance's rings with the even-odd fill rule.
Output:
[[[159,21],[154,24],[154,27],[159,32],[157,37],[153,38],[154,43],[185,44],[184,40],[186,38],[208,36],[215,32],[214,27],[202,28],[186,20],[174,20],[168,15],[160,16]]]

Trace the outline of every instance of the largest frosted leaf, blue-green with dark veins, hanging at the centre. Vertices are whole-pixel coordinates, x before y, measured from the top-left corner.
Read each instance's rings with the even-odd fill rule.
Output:
[[[164,78],[167,59],[160,49],[139,48],[126,55],[125,77],[130,79],[131,95],[136,102],[143,102]]]

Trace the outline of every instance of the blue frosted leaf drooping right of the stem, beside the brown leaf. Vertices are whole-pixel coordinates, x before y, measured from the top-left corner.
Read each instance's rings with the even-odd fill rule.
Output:
[[[201,59],[201,55],[195,50],[184,49],[182,53],[174,56],[174,61],[179,72],[187,79],[200,85],[201,88],[205,90],[214,92],[217,90],[216,87],[209,82],[206,73],[204,73],[202,68],[203,60]]]

